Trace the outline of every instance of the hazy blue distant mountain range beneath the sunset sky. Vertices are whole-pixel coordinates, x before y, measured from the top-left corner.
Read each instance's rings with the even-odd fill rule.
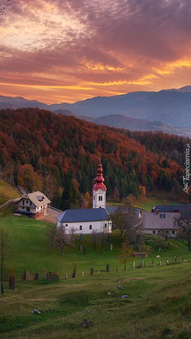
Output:
[[[22,97],[0,96],[0,109],[39,107],[56,114],[74,115],[96,124],[191,136],[191,86],[159,92],[132,92],[112,97],[94,97],[73,104],[47,105]]]

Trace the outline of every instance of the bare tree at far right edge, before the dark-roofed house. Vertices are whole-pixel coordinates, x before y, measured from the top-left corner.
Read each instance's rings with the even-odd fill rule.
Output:
[[[174,217],[174,227],[179,228],[179,234],[184,235],[188,240],[188,250],[191,252],[191,217],[185,213],[184,217]]]

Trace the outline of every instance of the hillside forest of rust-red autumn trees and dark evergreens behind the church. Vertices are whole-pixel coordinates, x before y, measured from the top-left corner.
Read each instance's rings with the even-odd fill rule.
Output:
[[[55,207],[85,207],[101,157],[107,197],[138,198],[158,188],[180,194],[185,144],[161,132],[134,132],[39,108],[0,111],[1,177],[42,191]]]

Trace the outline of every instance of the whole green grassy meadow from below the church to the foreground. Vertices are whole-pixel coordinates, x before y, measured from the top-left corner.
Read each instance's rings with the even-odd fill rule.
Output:
[[[164,242],[160,253],[156,242],[155,251],[144,258],[144,267],[139,268],[141,258],[135,258],[137,268],[133,269],[132,258],[124,271],[117,259],[119,234],[105,242],[103,255],[100,243],[94,251],[89,236],[81,241],[76,236],[74,247],[66,246],[61,256],[60,250],[51,247],[50,223],[12,213],[11,208],[1,213],[0,228],[11,236],[12,257],[5,269],[13,267],[17,291],[4,282],[0,338],[191,338],[191,254],[186,241],[169,240],[168,246]],[[72,278],[74,262],[76,278]],[[60,280],[21,280],[24,270],[44,274],[46,268],[57,271]],[[118,285],[123,289],[117,289]],[[118,298],[121,295],[128,298]],[[32,314],[34,308],[41,313]],[[89,326],[82,326],[83,318],[90,321]]]

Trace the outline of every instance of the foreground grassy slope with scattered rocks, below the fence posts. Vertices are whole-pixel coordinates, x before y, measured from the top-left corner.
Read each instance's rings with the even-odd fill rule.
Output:
[[[56,283],[18,282],[17,292],[1,297],[1,338],[190,338],[190,282],[188,263]],[[121,294],[129,298],[118,299]],[[41,314],[33,315],[33,308]]]

